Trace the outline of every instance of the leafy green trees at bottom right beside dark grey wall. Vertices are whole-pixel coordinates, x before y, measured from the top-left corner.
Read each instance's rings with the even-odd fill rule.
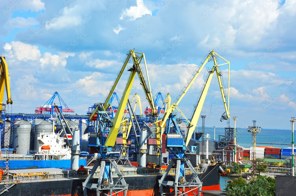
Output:
[[[258,175],[257,179],[250,183],[243,182],[244,179],[234,179],[226,187],[227,196],[274,196],[275,179]]]

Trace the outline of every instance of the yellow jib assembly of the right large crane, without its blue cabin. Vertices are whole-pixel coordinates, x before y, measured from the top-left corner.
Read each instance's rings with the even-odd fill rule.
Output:
[[[224,61],[226,61],[226,63],[222,63],[222,64],[217,64],[217,60],[216,60],[216,56],[220,57],[221,59],[223,59]],[[163,116],[163,122],[166,122],[166,120],[169,118],[169,116],[173,113],[173,111],[177,108],[178,111],[184,116],[184,114],[181,112],[181,110],[178,108],[178,104],[180,103],[180,101],[182,100],[182,98],[184,97],[184,95],[186,94],[186,92],[188,91],[188,89],[190,88],[190,86],[192,85],[192,83],[194,82],[194,80],[197,78],[197,76],[199,75],[199,73],[201,72],[202,68],[205,66],[205,64],[209,61],[214,61],[214,66],[211,69],[208,69],[208,76],[207,76],[207,80],[206,83],[204,85],[204,88],[202,90],[202,94],[200,95],[200,98],[197,102],[197,105],[194,108],[194,113],[192,115],[191,121],[189,122],[189,129],[186,135],[186,139],[185,139],[185,146],[188,145],[189,140],[194,132],[194,129],[197,125],[197,121],[198,118],[200,116],[200,112],[202,110],[202,106],[203,103],[205,102],[205,97],[207,95],[207,91],[209,89],[209,85],[210,82],[213,78],[213,74],[214,72],[216,72],[217,78],[218,78],[218,83],[219,83],[219,87],[220,87],[220,91],[221,91],[221,95],[222,95],[222,99],[223,99],[223,104],[225,107],[225,113],[222,115],[223,119],[228,119],[230,118],[229,116],[229,76],[230,76],[230,62],[225,60],[223,57],[221,57],[220,55],[218,55],[217,53],[214,52],[214,50],[211,50],[209,52],[209,54],[204,58],[204,61],[202,62],[202,65],[200,67],[197,67],[197,69],[194,71],[193,75],[190,77],[190,79],[188,80],[188,82],[186,83],[186,85],[184,86],[184,88],[182,89],[181,93],[179,94],[179,96],[177,97],[177,101],[176,103],[173,103],[168,110],[165,112],[164,116]],[[221,81],[221,75],[222,72],[219,71],[219,67],[220,65],[225,65],[228,64],[228,100],[226,101],[226,96],[224,94],[224,90],[223,90],[223,85],[222,85],[222,81]],[[184,116],[185,117],[185,116]],[[185,117],[186,118],[186,117]],[[165,123],[162,123],[161,125],[161,134],[163,134],[164,132],[164,128],[165,128]]]

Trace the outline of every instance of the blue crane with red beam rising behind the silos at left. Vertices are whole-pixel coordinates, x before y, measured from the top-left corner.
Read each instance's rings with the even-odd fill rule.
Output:
[[[65,101],[59,95],[59,93],[57,91],[55,91],[54,94],[52,95],[52,97],[48,101],[46,101],[46,103],[44,103],[43,106],[37,107],[35,109],[35,113],[36,114],[54,114],[54,113],[56,113],[57,111],[56,111],[54,104],[53,104],[55,98],[58,98],[58,102],[57,102],[57,103],[59,103],[58,107],[62,112],[74,112],[73,109],[70,109],[67,106]],[[64,108],[62,105],[64,106]]]

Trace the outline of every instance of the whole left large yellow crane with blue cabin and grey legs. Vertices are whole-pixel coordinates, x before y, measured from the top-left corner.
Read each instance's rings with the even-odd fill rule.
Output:
[[[143,87],[143,90],[144,90],[144,93],[145,93],[146,98],[148,100],[148,103],[149,103],[150,107],[153,109],[152,116],[157,115],[157,112],[156,112],[155,106],[154,106],[152,90],[151,90],[150,83],[149,83],[149,76],[148,76],[145,55],[144,55],[144,53],[135,52],[134,50],[129,50],[129,52],[127,53],[126,59],[124,60],[123,65],[122,65],[117,77],[115,78],[114,83],[112,84],[112,86],[110,88],[110,92],[107,95],[104,103],[97,105],[94,112],[90,115],[90,119],[92,119],[94,117],[94,115],[97,115],[97,118],[99,118],[99,119],[102,119],[104,116],[107,115],[106,110],[110,106],[110,104],[108,104],[108,101],[109,101],[112,93],[114,92],[115,87],[118,84],[118,81],[119,81],[126,65],[128,64],[128,61],[130,58],[132,58],[133,65],[128,68],[128,71],[130,71],[131,73],[130,73],[128,81],[126,83],[126,87],[124,88],[123,95],[120,99],[118,110],[115,114],[113,121],[111,122],[111,127],[110,127],[109,133],[107,135],[107,138],[103,142],[102,132],[105,131],[105,129],[107,129],[108,127],[103,128],[103,127],[101,127],[101,124],[100,124],[100,130],[97,130],[98,132],[89,133],[89,146],[91,148],[90,151],[94,152],[94,153],[100,153],[102,155],[102,158],[97,159],[97,162],[95,163],[94,167],[92,168],[89,176],[86,178],[86,181],[83,182],[83,193],[85,196],[86,196],[87,188],[96,190],[97,195],[101,195],[103,193],[105,195],[109,195],[109,194],[113,195],[113,194],[118,194],[119,192],[123,192],[123,195],[126,196],[128,185],[126,184],[125,180],[123,179],[123,174],[119,170],[115,160],[110,157],[110,153],[112,152],[112,147],[115,146],[115,141],[117,138],[118,131],[120,129],[120,125],[122,124],[123,113],[125,111],[126,105],[128,103],[130,103],[128,101],[128,97],[130,95],[131,87],[133,85],[133,80],[134,80],[136,74],[139,76],[140,83]],[[142,60],[145,65],[147,82],[145,80],[144,73],[143,73],[142,68],[140,66],[140,63]],[[130,111],[133,113],[133,109],[131,109]],[[131,118],[131,120],[132,120],[132,118]],[[140,140],[142,138],[140,138]],[[145,146],[145,145],[143,144],[143,146]],[[140,144],[140,149],[141,149],[141,144]],[[146,153],[145,149],[142,149],[142,150],[143,150],[142,154],[145,154]],[[140,157],[141,157],[141,155],[140,155]],[[93,184],[93,183],[91,183],[91,178],[93,177],[94,172],[98,168],[99,164],[101,164],[101,165],[100,165],[100,174],[99,174],[98,183]],[[118,178],[116,180],[113,180],[113,178],[112,178],[112,174],[111,174],[112,167],[115,169],[115,172],[118,175]],[[113,193],[113,192],[115,192],[115,193]]]

